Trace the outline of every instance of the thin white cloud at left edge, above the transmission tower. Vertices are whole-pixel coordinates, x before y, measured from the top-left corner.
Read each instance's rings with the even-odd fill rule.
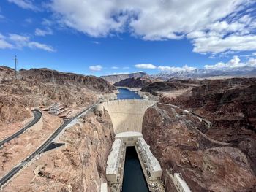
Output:
[[[50,45],[31,41],[30,37],[22,36],[19,34],[9,34],[9,36],[6,37],[0,34],[1,49],[22,49],[23,47],[46,50],[49,52],[56,51]]]

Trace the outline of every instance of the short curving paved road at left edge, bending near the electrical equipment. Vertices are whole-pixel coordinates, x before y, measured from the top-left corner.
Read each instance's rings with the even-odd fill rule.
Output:
[[[10,140],[15,139],[15,137],[18,137],[20,134],[23,134],[24,131],[26,131],[31,126],[34,126],[34,124],[36,124],[42,117],[42,112],[39,112],[39,110],[33,110],[33,114],[34,114],[34,119],[29,123],[29,125],[21,128],[19,131],[17,131],[15,134],[12,134],[10,137],[7,137],[6,139],[1,140],[0,146],[4,145],[4,143],[6,142],[10,142]]]

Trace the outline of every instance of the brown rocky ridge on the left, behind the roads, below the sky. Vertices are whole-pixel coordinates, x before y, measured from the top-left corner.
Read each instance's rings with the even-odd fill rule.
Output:
[[[20,70],[18,80],[14,74],[13,69],[0,68],[0,123],[29,118],[31,106],[55,102],[67,107],[85,106],[97,101],[97,93],[115,89],[101,78],[50,69]]]

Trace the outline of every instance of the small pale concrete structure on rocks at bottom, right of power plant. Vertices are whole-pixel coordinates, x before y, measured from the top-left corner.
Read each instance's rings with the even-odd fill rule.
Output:
[[[167,174],[173,180],[173,183],[178,192],[191,192],[189,186],[187,185],[186,181],[182,177],[181,173],[173,173],[173,169],[166,169]]]

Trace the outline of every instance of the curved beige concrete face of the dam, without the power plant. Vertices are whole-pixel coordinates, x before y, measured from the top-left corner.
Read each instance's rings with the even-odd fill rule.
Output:
[[[126,131],[141,133],[145,111],[155,103],[156,101],[123,99],[108,101],[98,107],[108,111],[115,134]]]

